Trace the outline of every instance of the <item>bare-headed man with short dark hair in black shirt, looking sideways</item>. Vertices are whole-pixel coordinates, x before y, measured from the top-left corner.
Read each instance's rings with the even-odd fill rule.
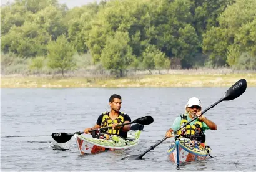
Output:
[[[89,130],[112,127],[103,133],[108,133],[109,135],[118,135],[123,138],[127,137],[127,132],[130,131],[130,124],[124,125],[122,127],[116,127],[117,124],[129,123],[132,120],[126,113],[120,112],[122,106],[122,98],[120,95],[113,94],[109,98],[109,106],[111,108],[110,112],[104,112],[99,115],[96,124],[92,128],[86,128],[84,133],[88,134]]]

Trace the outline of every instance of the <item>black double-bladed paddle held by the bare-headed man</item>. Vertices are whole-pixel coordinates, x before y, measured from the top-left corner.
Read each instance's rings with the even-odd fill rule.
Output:
[[[122,123],[119,125],[116,125],[116,127],[119,126],[124,126],[124,125],[128,125],[128,124],[132,124],[132,123],[138,123],[141,125],[149,125],[150,123],[154,122],[154,118],[151,116],[145,116],[145,117],[141,117],[141,118],[137,118],[136,120],[129,122],[129,123]],[[102,130],[106,130],[110,127],[104,127],[104,128],[97,128],[94,130],[89,130],[89,132],[92,131],[102,131]],[[72,136],[74,136],[75,134],[81,135],[84,132],[76,132],[76,133],[52,133],[52,138],[57,142],[57,143],[66,143],[67,141],[71,140]]]

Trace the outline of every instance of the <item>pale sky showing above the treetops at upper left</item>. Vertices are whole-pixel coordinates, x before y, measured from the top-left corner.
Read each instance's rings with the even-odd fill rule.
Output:
[[[1,5],[2,4],[6,4],[8,1],[9,2],[14,2],[14,0],[0,0],[1,1]],[[99,2],[100,0],[59,0],[60,4],[66,4],[67,7],[72,8],[75,6],[82,6],[82,5],[86,5],[89,4],[91,2]]]

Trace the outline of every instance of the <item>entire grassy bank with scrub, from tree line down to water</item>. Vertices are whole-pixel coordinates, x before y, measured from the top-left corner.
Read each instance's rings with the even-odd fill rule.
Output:
[[[29,59],[1,54],[1,88],[229,87],[241,78],[247,79],[249,87],[256,87],[255,70],[197,67],[149,72],[127,69],[126,77],[115,78],[101,64],[93,65],[90,54],[76,54],[74,59],[76,69],[62,77],[47,67],[46,57]]]

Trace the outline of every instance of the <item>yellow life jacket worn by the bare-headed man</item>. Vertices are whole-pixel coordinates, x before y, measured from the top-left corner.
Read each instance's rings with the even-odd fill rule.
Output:
[[[124,115],[125,115],[124,112],[120,112],[119,116],[114,120],[112,120],[109,117],[109,112],[104,112],[102,114],[103,114],[103,118],[102,118],[101,128],[111,127],[113,123],[118,123],[118,124],[124,123]],[[116,130],[116,129],[109,128],[106,132],[111,134],[111,135],[119,135],[119,130],[118,129]]]

